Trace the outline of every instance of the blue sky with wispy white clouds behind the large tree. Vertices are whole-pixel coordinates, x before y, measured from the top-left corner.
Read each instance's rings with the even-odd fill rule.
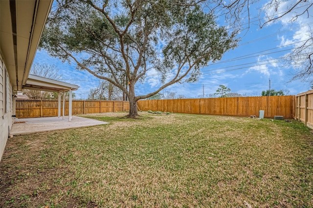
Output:
[[[267,1],[261,1],[261,3],[265,2]],[[255,7],[260,6],[262,5]],[[282,5],[278,12],[284,9],[286,8]],[[250,11],[257,16],[257,9],[250,8]],[[310,14],[313,14],[312,9]],[[242,41],[237,48],[225,53],[219,62],[201,69],[202,75],[198,82],[177,83],[163,91],[176,92],[177,95],[188,98],[198,98],[203,92],[203,86],[205,94],[213,94],[220,84],[224,84],[233,93],[260,96],[262,90],[269,88],[269,79],[271,89],[289,90],[290,95],[310,90],[309,82],[290,82],[295,71],[292,65],[288,66],[283,62],[282,57],[291,52],[296,42],[308,39],[307,34],[310,26],[313,26],[313,18],[303,16],[291,24],[289,22],[291,16],[292,14],[275,23],[269,23],[262,29],[256,25],[257,21],[252,22],[249,30],[240,34]],[[230,61],[232,59],[235,61]],[[60,81],[80,86],[75,92],[77,98],[86,99],[89,89],[96,87],[100,82],[89,72],[77,70],[74,63],[69,64],[52,58],[43,49],[37,51],[34,62],[56,65],[62,74]],[[149,76],[155,73],[153,70],[150,71],[143,83],[135,85],[136,95],[150,93],[161,85],[157,76]]]

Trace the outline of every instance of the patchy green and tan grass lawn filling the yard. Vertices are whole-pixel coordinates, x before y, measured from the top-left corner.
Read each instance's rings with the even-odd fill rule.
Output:
[[[123,115],[10,138],[0,207],[313,208],[313,135],[300,122]]]

